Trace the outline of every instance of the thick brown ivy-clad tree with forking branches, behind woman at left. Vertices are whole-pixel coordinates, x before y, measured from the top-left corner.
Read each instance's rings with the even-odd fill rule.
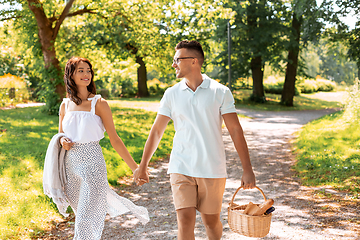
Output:
[[[73,6],[75,0],[69,0],[62,6],[60,4],[53,4],[51,2],[40,2],[39,0],[23,0],[23,1],[14,1],[14,0],[2,0],[2,4],[10,4],[15,6],[16,9],[6,9],[0,12],[1,21],[8,19],[14,19],[16,21],[24,21],[28,19],[31,21],[28,9],[32,12],[37,23],[37,35],[38,41],[41,46],[41,51],[43,54],[44,67],[51,76],[50,81],[54,85],[55,93],[46,94],[49,96],[47,99],[47,105],[50,112],[57,111],[57,104],[60,97],[65,96],[65,88],[61,81],[62,69],[59,64],[59,60],[56,55],[55,43],[60,30],[61,25],[63,24],[65,18],[73,17],[76,15],[81,15],[84,13],[91,13],[92,10],[84,7],[82,9],[75,10],[70,13],[70,9]],[[51,16],[50,13],[51,12]],[[54,91],[50,89],[50,92]],[[51,96],[51,97],[50,97]],[[55,98],[55,99],[54,99]],[[55,101],[54,101],[55,100]]]

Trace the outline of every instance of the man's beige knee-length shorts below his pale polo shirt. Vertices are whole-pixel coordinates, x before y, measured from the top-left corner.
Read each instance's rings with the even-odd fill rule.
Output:
[[[221,212],[226,178],[196,178],[170,173],[175,209],[195,207],[204,214]]]

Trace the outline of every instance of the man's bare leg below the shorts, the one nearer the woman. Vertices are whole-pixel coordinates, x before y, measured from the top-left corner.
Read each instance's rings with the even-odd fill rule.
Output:
[[[196,209],[194,207],[176,210],[178,221],[178,240],[195,240],[194,228]]]

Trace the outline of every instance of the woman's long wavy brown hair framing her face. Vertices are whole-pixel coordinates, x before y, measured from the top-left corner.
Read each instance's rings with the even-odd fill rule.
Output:
[[[94,82],[94,70],[92,69],[92,65],[90,61],[82,57],[70,58],[65,66],[64,83],[66,87],[67,97],[69,97],[74,103],[76,103],[76,105],[80,105],[82,103],[82,100],[78,97],[78,89],[72,76],[76,70],[76,66],[80,62],[84,62],[89,65],[91,71],[91,82],[89,86],[87,86],[87,90],[92,94],[96,94],[96,87]]]

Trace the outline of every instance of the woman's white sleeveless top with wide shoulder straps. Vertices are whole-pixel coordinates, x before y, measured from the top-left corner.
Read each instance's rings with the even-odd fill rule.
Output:
[[[76,143],[100,141],[104,137],[105,127],[101,118],[95,114],[95,105],[101,95],[88,98],[91,101],[91,110],[68,111],[70,98],[64,98],[65,116],[62,121],[62,129],[65,135]]]

